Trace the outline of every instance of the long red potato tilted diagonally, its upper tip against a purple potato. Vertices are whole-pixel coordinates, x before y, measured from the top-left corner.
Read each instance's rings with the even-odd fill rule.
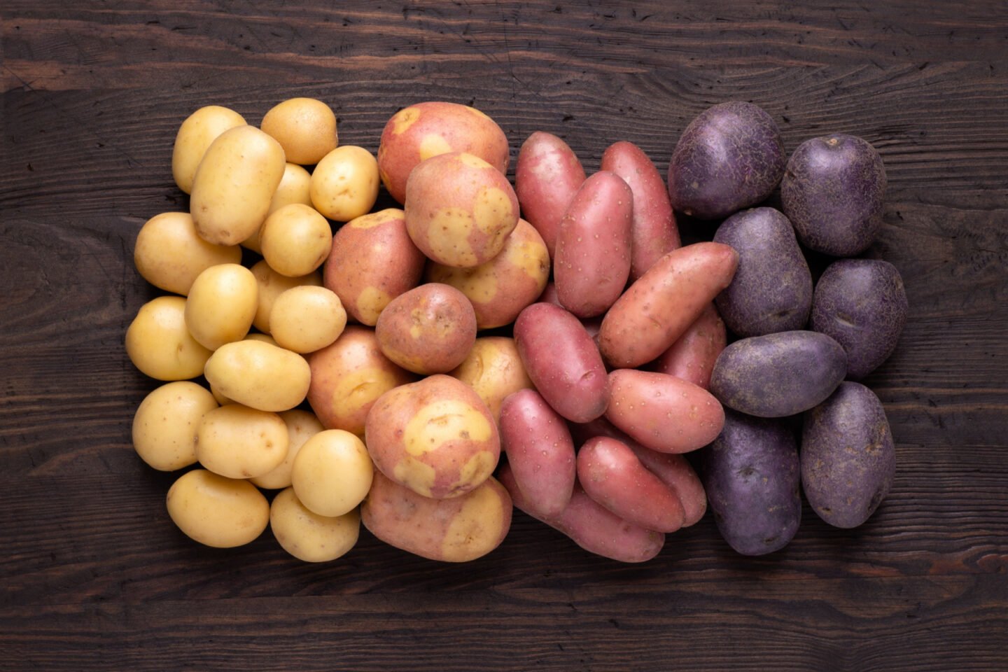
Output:
[[[721,243],[672,250],[624,292],[599,332],[603,357],[619,369],[656,359],[732,282],[739,254]]]

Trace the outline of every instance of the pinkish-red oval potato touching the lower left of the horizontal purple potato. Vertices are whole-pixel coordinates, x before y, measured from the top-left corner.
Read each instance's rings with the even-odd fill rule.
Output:
[[[718,438],[725,409],[713,394],[684,380],[650,371],[609,374],[606,417],[642,445],[659,452],[689,452]]]

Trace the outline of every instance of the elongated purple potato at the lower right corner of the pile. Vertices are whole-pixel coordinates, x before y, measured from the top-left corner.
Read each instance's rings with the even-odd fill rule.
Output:
[[[805,414],[801,432],[801,486],[818,517],[857,527],[889,494],[896,448],[879,398],[860,383],[837,391]]]

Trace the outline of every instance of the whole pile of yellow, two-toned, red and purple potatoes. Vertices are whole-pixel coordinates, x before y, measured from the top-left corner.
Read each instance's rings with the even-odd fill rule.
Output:
[[[892,439],[877,398],[843,381],[891,354],[906,301],[894,268],[859,259],[813,294],[798,241],[864,250],[885,177],[864,141],[809,142],[786,162],[772,119],[731,103],[686,129],[667,186],[632,143],[588,176],[544,132],[512,186],[504,132],[463,105],[400,110],[376,155],[340,145],[321,101],[259,128],[198,110],[172,154],[190,212],[150,219],[134,250],[167,294],[126,332],[165,381],[136,411],[137,453],[197,465],[170,518],[217,547],[269,526],[305,561],[344,555],[363,523],[458,562],[496,548],[517,507],[641,562],[709,497],[736,550],[783,546],[801,480],[824,519],[860,524]],[[782,176],[783,214],[742,210]],[[380,185],[402,209],[375,211]],[[731,217],[682,247],[673,209]],[[799,413],[800,468],[778,419]]]

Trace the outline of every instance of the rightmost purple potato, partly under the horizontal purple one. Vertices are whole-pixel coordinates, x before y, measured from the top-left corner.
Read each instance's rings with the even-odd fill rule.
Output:
[[[847,378],[859,380],[892,355],[906,310],[903,278],[895,266],[876,259],[841,259],[827,267],[815,285],[811,329],[844,347]]]

